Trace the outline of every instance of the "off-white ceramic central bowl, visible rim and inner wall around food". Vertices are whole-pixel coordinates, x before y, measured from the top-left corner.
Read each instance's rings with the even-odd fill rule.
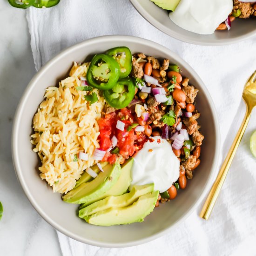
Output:
[[[201,165],[196,169],[193,180],[188,182],[177,198],[165,203],[146,217],[144,222],[123,226],[98,227],[84,222],[77,216],[77,205],[65,203],[60,194],[52,189],[39,176],[39,158],[30,144],[32,119],[45,89],[56,85],[67,76],[73,61],[83,62],[88,56],[105,52],[117,46],[127,46],[132,53],[143,52],[155,57],[168,58],[177,63],[183,75],[200,92],[196,106],[202,113],[200,123],[205,135],[201,153]],[[155,42],[131,36],[104,36],[81,42],[67,48],[49,61],[34,76],[17,108],[13,124],[12,153],[16,174],[24,192],[38,213],[55,229],[83,243],[101,247],[127,247],[146,243],[175,229],[195,210],[211,185],[219,156],[219,126],[213,101],[202,80],[185,61],[169,49]]]

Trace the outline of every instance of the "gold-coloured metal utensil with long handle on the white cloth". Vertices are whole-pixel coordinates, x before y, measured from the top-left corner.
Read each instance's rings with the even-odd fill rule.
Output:
[[[222,189],[222,185],[228,174],[231,162],[233,161],[233,158],[236,154],[236,150],[240,144],[240,141],[242,140],[243,134],[249,122],[251,111],[256,106],[256,81],[255,80],[256,80],[256,71],[251,75],[251,77],[249,78],[249,80],[247,81],[247,83],[243,88],[243,100],[245,101],[245,104],[246,104],[246,113],[245,113],[242,125],[237,132],[236,138],[233,141],[231,148],[229,149],[229,153],[222,164],[222,167],[219,171],[216,181],[214,182],[210,190],[210,193],[203,205],[202,211],[200,213],[200,217],[206,220],[209,219],[209,216],[212,212],[212,209],[215,205],[218,195]]]

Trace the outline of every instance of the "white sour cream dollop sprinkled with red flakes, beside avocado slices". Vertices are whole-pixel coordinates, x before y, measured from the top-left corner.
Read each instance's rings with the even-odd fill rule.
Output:
[[[179,178],[180,162],[168,141],[160,136],[151,139],[134,157],[131,187],[154,183],[155,190],[164,192]]]

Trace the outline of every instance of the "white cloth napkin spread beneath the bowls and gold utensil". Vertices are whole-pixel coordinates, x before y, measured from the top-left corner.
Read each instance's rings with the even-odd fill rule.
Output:
[[[128,0],[61,0],[53,8],[30,8],[27,21],[37,70],[63,48],[107,34],[135,35],[175,51],[201,76],[215,102],[221,128],[221,165],[245,112],[241,95],[245,81],[256,69],[256,38],[222,47],[183,43],[151,26]],[[124,249],[86,245],[57,232],[63,256],[255,255],[256,159],[249,151],[253,130],[256,111],[209,221],[198,216],[201,205],[168,235]]]

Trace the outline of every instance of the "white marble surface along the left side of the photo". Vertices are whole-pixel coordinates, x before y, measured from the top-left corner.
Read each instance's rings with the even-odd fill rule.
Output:
[[[0,0],[0,221],[1,256],[59,256],[53,229],[28,202],[16,179],[11,129],[20,97],[35,74],[25,11]]]

